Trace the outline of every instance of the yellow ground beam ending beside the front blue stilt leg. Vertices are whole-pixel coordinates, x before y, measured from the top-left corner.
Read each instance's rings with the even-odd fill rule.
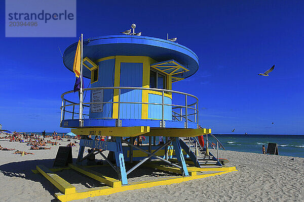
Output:
[[[73,164],[68,164],[68,166],[75,170],[75,171],[78,171],[86,176],[89,176],[99,182],[102,182],[110,187],[121,187],[122,186],[122,182],[120,180],[117,180],[117,179],[113,179],[113,178],[110,178],[110,177],[106,177],[106,176],[103,176],[102,174],[96,172],[96,171],[93,171],[93,170],[90,170],[90,169],[86,169],[82,166],[77,166],[77,165],[73,165]]]

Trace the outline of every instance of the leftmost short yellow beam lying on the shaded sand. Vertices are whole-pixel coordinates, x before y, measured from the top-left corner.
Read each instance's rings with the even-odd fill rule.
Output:
[[[70,183],[53,173],[43,165],[36,166],[43,176],[45,176],[52,184],[54,184],[63,194],[72,194],[76,192],[76,188]]]

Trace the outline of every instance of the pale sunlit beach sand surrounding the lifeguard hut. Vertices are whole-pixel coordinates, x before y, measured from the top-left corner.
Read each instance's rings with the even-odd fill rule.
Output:
[[[67,141],[59,141],[66,145]],[[1,201],[58,201],[59,190],[41,174],[32,173],[36,165],[51,168],[58,146],[50,150],[29,150],[25,143],[0,140],[3,147],[32,152],[35,155],[15,155],[0,150]],[[49,146],[48,146],[49,147]],[[79,146],[72,147],[73,158]],[[215,150],[210,150],[214,155]],[[96,156],[97,157],[97,156]],[[304,201],[304,158],[243,153],[220,150],[219,158],[230,160],[227,166],[238,171],[187,181],[179,184],[143,188],[75,201]],[[145,170],[143,170],[145,169]],[[72,170],[57,174],[80,188],[102,186],[96,180]],[[170,173],[146,168],[138,169],[132,180],[166,177]]]

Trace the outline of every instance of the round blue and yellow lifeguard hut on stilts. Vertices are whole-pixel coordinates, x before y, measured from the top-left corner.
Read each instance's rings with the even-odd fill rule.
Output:
[[[132,28],[134,33],[135,25]],[[77,45],[71,44],[63,54],[63,63],[71,71]],[[198,57],[191,49],[170,40],[134,33],[88,38],[83,41],[82,53],[82,74],[90,79],[91,87],[82,89],[86,95],[83,102],[73,91],[61,95],[60,127],[71,128],[82,136],[77,164],[70,164],[71,169],[107,184],[112,188],[106,190],[109,194],[198,179],[202,176],[197,172],[204,165],[221,166],[218,153],[217,158],[211,153],[205,155],[207,148],[199,144],[197,136],[212,134],[211,129],[198,125],[198,98],[172,89],[173,82],[194,75],[199,68]],[[100,136],[111,138],[103,141]],[[148,143],[141,145],[140,136],[147,137]],[[217,148],[219,144],[217,140]],[[84,157],[85,147],[94,148],[94,154],[103,156],[118,173],[118,179],[88,172],[82,165],[90,156]],[[103,154],[106,150],[108,156]],[[132,165],[128,170],[126,163]],[[181,176],[167,181],[128,182],[127,176],[140,165]],[[235,167],[225,172],[233,170]],[[86,193],[102,195],[102,190]],[[68,194],[56,194],[62,201],[85,196],[88,197],[84,191],[74,189]]]

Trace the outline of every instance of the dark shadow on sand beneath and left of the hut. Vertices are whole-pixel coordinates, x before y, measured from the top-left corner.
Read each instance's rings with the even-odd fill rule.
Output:
[[[0,171],[5,176],[8,177],[17,177],[23,178],[35,182],[40,182],[43,188],[51,195],[54,196],[55,193],[60,192],[51,182],[49,182],[45,177],[41,174],[34,174],[31,170],[36,169],[36,165],[44,165],[47,168],[52,168],[55,159],[44,159],[44,160],[28,160],[28,161],[21,161],[21,162],[11,162],[8,164],[4,164],[0,166]],[[73,159],[73,162],[76,162],[76,159]],[[104,162],[104,164],[106,164]],[[126,169],[129,170],[134,165],[126,165]],[[102,167],[92,167],[90,168],[95,170],[105,176],[112,177],[118,179],[118,174],[110,167],[110,166],[102,166]],[[76,189],[84,189],[84,188],[94,188],[94,187],[101,187],[105,186],[105,184],[94,180],[90,177],[87,177],[79,172],[74,170],[62,170],[56,172],[58,176],[69,182],[70,184],[74,185]],[[172,176],[172,173],[159,171],[156,169],[149,169],[146,167],[140,166],[139,169],[136,169],[134,172],[128,175],[128,181],[143,181],[143,180],[150,180],[159,177],[168,177]],[[58,199],[52,199],[52,202],[59,201]]]

